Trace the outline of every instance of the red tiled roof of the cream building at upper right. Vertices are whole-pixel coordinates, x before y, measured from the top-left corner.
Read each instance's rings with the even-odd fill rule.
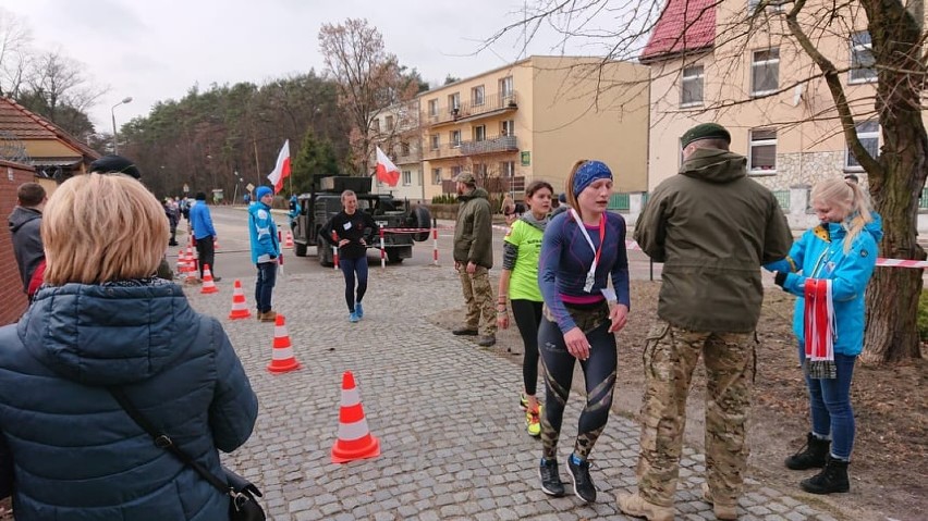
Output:
[[[642,62],[712,47],[718,0],[668,0],[642,52]]]

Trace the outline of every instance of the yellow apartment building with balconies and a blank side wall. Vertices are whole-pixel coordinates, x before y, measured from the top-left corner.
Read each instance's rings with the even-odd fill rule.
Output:
[[[647,78],[647,67],[633,63],[530,57],[422,92],[422,199],[453,194],[451,179],[462,170],[516,199],[536,179],[560,193],[578,159],[609,164],[616,191],[645,190]]]

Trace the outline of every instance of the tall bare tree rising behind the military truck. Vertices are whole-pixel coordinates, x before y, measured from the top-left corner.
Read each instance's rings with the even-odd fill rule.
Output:
[[[387,52],[382,35],[366,20],[323,24],[319,49],[326,73],[338,85],[339,106],[351,124],[349,139],[356,172],[364,174],[374,150],[373,121],[387,107],[411,99],[418,85],[404,77],[396,57]]]

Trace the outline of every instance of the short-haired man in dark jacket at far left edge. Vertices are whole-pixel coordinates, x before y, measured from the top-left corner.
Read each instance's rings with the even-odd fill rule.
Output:
[[[45,272],[45,249],[41,243],[41,211],[48,200],[38,183],[23,183],[16,189],[16,208],[7,223],[13,237],[13,256],[23,278],[23,293],[32,301],[41,285]]]

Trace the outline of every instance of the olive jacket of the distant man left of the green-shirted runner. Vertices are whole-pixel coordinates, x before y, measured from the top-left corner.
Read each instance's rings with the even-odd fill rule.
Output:
[[[487,190],[474,188],[457,197],[457,222],[454,226],[454,260],[473,262],[486,269],[493,266],[493,223]]]

